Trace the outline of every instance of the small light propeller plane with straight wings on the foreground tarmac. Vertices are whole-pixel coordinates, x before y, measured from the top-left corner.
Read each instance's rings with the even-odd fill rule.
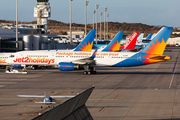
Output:
[[[69,98],[74,97],[74,95],[66,95],[66,96],[47,96],[46,93],[44,95],[17,95],[18,97],[33,97],[33,98],[43,98],[43,102],[35,102],[35,103],[43,103],[43,104],[52,104],[53,98]]]

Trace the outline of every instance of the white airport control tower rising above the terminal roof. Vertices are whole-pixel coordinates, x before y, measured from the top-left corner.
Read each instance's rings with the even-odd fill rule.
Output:
[[[45,31],[48,29],[48,18],[51,17],[51,7],[49,0],[37,0],[36,7],[34,7],[34,17],[37,18],[37,25]]]

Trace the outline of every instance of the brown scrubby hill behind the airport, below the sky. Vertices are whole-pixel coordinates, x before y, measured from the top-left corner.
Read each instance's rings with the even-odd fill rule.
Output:
[[[15,24],[15,21],[6,21],[0,20],[0,24]],[[18,22],[19,24],[36,24],[36,21],[32,22]],[[72,23],[72,31],[85,31],[84,24],[76,24]],[[95,24],[96,26],[96,24]],[[69,31],[69,23],[63,23],[61,21],[49,20],[48,21],[49,30],[52,31],[52,34],[67,34]],[[93,28],[93,24],[87,24],[87,32],[89,32]],[[124,31],[124,35],[130,36],[134,31],[139,31],[140,33],[144,33],[144,36],[147,36],[149,33],[157,33],[161,27],[151,26],[142,23],[119,23],[119,22],[108,22],[108,35],[109,38],[112,39],[119,31]],[[98,23],[98,36],[100,35],[99,30],[100,23]],[[104,36],[104,23],[101,23],[102,37]],[[173,30],[180,31],[180,30]],[[171,37],[175,37],[179,35],[171,35]]]

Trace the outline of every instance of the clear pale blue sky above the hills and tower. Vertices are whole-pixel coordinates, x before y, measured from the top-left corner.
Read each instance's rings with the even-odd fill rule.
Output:
[[[34,18],[37,0],[18,0],[19,21],[30,22]],[[100,12],[104,21],[104,7],[109,14],[109,22],[142,23],[147,25],[165,25],[180,27],[180,0],[88,0],[87,23],[93,23],[93,10],[98,4],[98,22]],[[70,0],[49,0],[52,20],[69,23]],[[16,20],[16,0],[1,0],[0,19]],[[95,20],[96,21],[96,20]],[[85,0],[72,1],[72,22],[85,23]]]

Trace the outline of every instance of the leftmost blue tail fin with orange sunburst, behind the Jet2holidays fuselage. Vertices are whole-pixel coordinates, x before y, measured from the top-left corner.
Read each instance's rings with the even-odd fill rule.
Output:
[[[91,30],[84,40],[74,49],[74,51],[91,51],[96,30]]]

